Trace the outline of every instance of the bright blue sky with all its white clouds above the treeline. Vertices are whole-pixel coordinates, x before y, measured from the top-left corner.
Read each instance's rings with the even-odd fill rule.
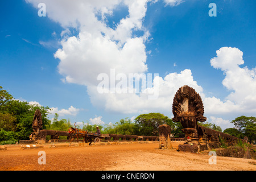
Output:
[[[39,3],[46,17],[38,16]],[[210,17],[209,3],[217,16]],[[160,112],[177,89],[200,93],[224,130],[256,109],[256,2],[1,1],[0,85],[60,118],[101,125]],[[218,53],[216,52],[218,51]],[[100,73],[158,73],[159,97],[97,93]],[[51,118],[53,114],[49,115]]]

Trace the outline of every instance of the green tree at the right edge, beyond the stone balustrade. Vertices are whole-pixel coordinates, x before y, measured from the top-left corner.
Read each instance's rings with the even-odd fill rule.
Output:
[[[241,138],[248,137],[249,142],[256,140],[256,118],[242,115],[232,121],[234,126],[242,133]]]

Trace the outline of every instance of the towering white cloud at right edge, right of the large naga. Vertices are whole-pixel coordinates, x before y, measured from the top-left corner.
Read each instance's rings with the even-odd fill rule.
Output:
[[[224,72],[222,84],[230,94],[225,101],[205,98],[206,110],[210,113],[255,113],[256,68],[240,68],[245,61],[243,52],[238,48],[222,47],[216,53],[217,57],[210,59],[210,65]]]

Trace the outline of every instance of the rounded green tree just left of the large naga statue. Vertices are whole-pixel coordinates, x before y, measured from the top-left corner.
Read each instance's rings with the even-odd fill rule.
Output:
[[[158,136],[160,125],[164,125],[168,121],[168,117],[160,113],[141,114],[135,118],[135,134]]]

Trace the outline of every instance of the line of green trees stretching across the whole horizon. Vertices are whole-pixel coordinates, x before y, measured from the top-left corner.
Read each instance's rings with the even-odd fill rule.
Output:
[[[69,127],[75,127],[68,119],[60,119],[56,113],[51,120],[47,118],[49,107],[40,105],[30,105],[28,102],[14,100],[13,96],[0,86],[0,141],[16,141],[28,139],[32,132],[32,120],[35,110],[40,109],[42,113],[43,129],[68,131]],[[82,126],[76,126],[82,130],[96,132],[96,125],[90,125],[89,122],[82,122]],[[241,116],[232,121],[236,128],[224,130],[224,133],[243,139],[248,137],[249,141],[256,140],[256,118]],[[171,133],[174,137],[182,138],[181,123],[173,122],[161,113],[148,113],[138,115],[131,121],[130,118],[120,119],[114,124],[97,125],[102,134],[121,134],[121,135],[145,135],[158,136],[159,125],[167,124],[171,126]],[[220,126],[212,123],[200,123],[199,125],[213,130],[221,131]],[[8,143],[8,142],[2,142]]]

